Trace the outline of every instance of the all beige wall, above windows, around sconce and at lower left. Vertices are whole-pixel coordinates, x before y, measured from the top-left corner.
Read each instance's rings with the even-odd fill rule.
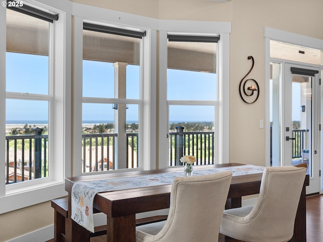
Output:
[[[230,88],[230,162],[264,165],[265,136],[264,129],[259,129],[259,120],[265,118],[264,27],[323,39],[321,0],[232,0],[231,2],[74,0],[73,2],[159,19],[232,22],[230,80],[227,84]],[[251,67],[248,55],[252,55],[255,59],[254,69],[248,78],[255,79],[260,86],[260,96],[254,104],[245,104],[238,93],[239,82]],[[30,216],[33,218],[29,219]],[[2,214],[0,241],[52,223],[53,210],[49,202]],[[6,237],[3,239],[4,233]]]

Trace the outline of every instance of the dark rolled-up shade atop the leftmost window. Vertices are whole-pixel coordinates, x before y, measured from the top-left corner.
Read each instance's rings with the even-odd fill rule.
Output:
[[[25,4],[22,7],[9,7],[9,6],[11,6],[11,4],[9,2],[13,2],[13,1],[7,1],[7,8],[10,10],[14,10],[19,13],[26,14],[26,15],[50,22],[50,23],[53,23],[53,21],[56,21],[59,19],[58,14],[50,14],[50,13],[41,11],[39,9],[32,8],[32,7],[25,5]]]

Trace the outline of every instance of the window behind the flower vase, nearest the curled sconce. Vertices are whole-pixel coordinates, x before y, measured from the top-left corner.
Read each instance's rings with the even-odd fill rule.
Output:
[[[167,106],[169,165],[194,155],[214,164],[218,36],[168,36]]]

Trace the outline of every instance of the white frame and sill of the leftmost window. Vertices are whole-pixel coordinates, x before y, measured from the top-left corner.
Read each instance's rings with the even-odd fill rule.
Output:
[[[44,2],[44,1],[43,1]],[[48,2],[48,1],[47,1]],[[49,3],[47,5],[37,3],[32,0],[24,1],[24,4],[38,8],[43,11],[59,13],[59,20],[55,22],[51,33],[53,35],[50,43],[50,51],[52,57],[52,80],[49,98],[42,95],[33,95],[31,99],[51,100],[49,111],[49,136],[50,136],[50,175],[46,178],[24,181],[19,184],[0,185],[0,203],[6,206],[0,207],[0,214],[28,207],[41,202],[49,201],[54,198],[66,196],[64,178],[70,176],[70,145],[71,138],[68,134],[71,120],[71,101],[69,95],[71,93],[71,55],[68,51],[71,49],[71,15],[66,12],[59,11],[57,4]],[[68,5],[65,6],[68,9]],[[6,8],[0,8],[0,63],[6,63]],[[55,57],[54,57],[55,56]],[[6,66],[0,65],[0,111],[6,113]],[[8,93],[7,97],[16,97],[14,93]],[[5,126],[6,117],[1,115],[0,145],[5,147]],[[55,134],[55,135],[54,135]],[[0,157],[5,157],[5,149],[0,149]],[[6,173],[5,162],[0,164],[0,174]]]

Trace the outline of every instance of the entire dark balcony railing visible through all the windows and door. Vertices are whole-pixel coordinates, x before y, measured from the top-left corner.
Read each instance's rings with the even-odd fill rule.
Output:
[[[214,164],[214,132],[183,130],[179,126],[169,134],[169,164],[183,165],[180,158],[186,154],[196,157],[195,165]],[[48,176],[48,135],[41,135],[41,131],[37,128],[34,135],[6,136],[6,184]],[[308,130],[293,130],[292,158],[302,157],[305,132]],[[115,169],[116,137],[118,134],[82,135],[83,172]],[[138,133],[128,133],[126,145],[127,168],[138,167]]]

